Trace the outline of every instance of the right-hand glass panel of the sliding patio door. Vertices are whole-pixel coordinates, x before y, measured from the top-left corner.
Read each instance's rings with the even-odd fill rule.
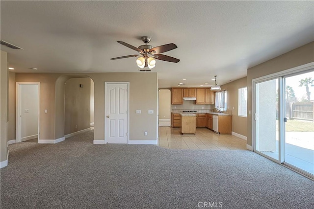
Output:
[[[314,174],[314,72],[284,76],[284,162]],[[312,91],[312,93],[311,93]]]

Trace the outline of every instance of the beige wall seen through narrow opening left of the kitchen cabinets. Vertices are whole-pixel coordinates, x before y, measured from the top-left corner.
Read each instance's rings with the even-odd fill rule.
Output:
[[[169,119],[171,112],[171,92],[170,90],[159,90],[159,119]]]

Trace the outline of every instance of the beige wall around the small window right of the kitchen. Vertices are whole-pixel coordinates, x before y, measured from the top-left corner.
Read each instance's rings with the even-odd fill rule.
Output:
[[[246,86],[247,77],[221,86],[221,89],[227,90],[228,111],[232,111],[232,131],[245,137],[247,137],[247,117],[238,116],[238,89]]]

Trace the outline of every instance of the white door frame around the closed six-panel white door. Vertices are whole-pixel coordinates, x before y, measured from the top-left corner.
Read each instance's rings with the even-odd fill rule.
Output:
[[[130,143],[130,82],[128,81],[117,81],[117,82],[112,82],[112,81],[105,81],[105,92],[104,92],[104,104],[105,104],[105,114],[104,114],[104,120],[105,120],[105,126],[104,126],[104,140],[105,140],[105,144],[107,143],[107,137],[106,137],[106,112],[107,112],[107,108],[106,108],[106,89],[107,89],[107,84],[127,84],[127,144]]]

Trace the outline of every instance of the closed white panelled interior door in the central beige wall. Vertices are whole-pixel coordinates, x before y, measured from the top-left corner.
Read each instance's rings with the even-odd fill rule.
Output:
[[[128,143],[128,83],[105,82],[105,143]]]

